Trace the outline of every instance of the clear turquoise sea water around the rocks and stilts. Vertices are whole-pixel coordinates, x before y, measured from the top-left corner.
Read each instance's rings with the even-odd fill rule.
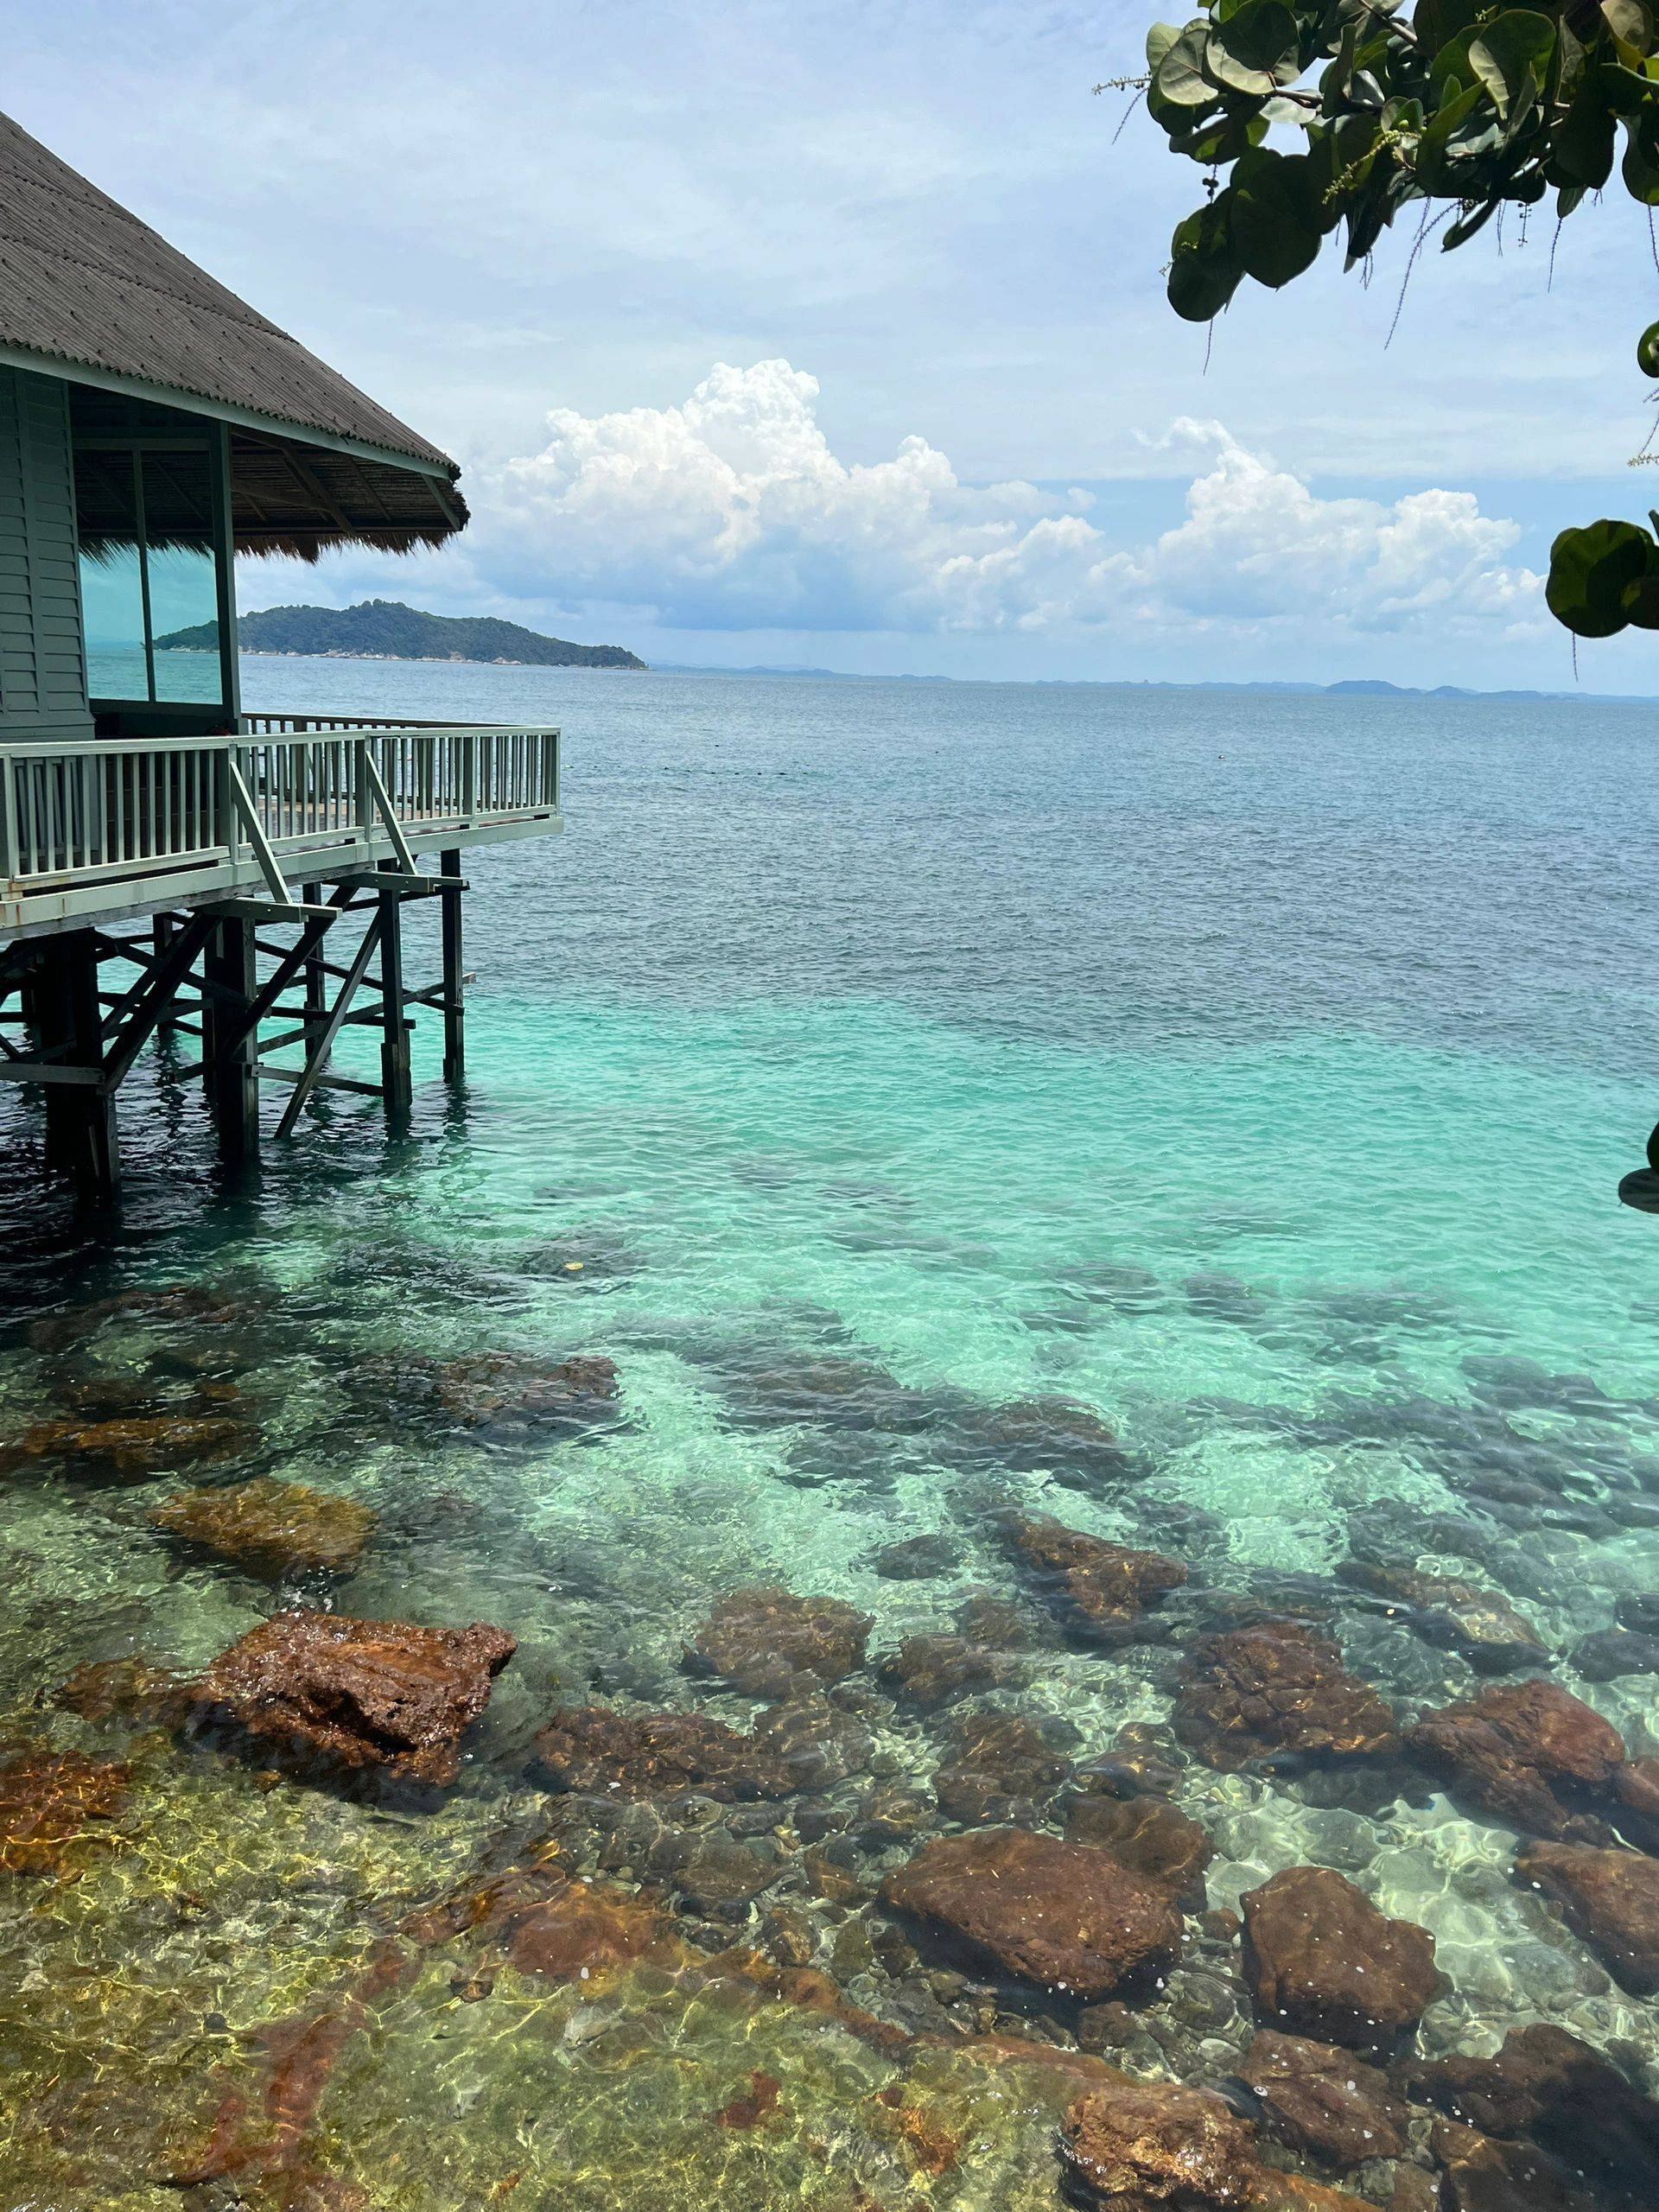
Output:
[[[226,1186],[195,1086],[146,1062],[124,1212],[71,1223],[31,1102],[0,1099],[0,1420],[51,1418],[66,1374],[219,1360],[252,1442],[212,1480],[378,1515],[341,1610],[489,1619],[520,1655],[438,1812],[133,1750],[53,1708],[64,1674],[199,1668],[283,1593],[161,1544],[177,1471],[7,1478],[11,1734],[128,1747],[137,1778],[75,1880],[0,1876],[0,2055],[31,2115],[2,2205],[177,2203],[177,2146],[226,2084],[265,2093],[261,2033],[338,2011],[400,1916],[546,1829],[526,1739],[555,1703],[745,1723],[681,1670],[714,1597],[849,1597],[878,1655],[1018,1590],[1000,1504],[1172,1553],[1210,1593],[1316,1586],[1400,1712],[1478,1688],[1334,1582],[1383,1544],[1506,1593],[1553,1677],[1650,1747],[1659,1677],[1573,1666],[1659,1590],[1659,1225],[1615,1203],[1659,1110],[1648,710],[270,659],[246,697],[557,721],[566,836],[467,858],[467,1091],[420,1022],[405,1137],[334,1095]],[[42,1312],[179,1281],[239,1318],[126,1305],[69,1354],[29,1340]],[[615,1358],[622,1418],[571,1440],[392,1402],[387,1354],[478,1352]],[[869,1369],[852,1407],[779,1413],[765,1378],[825,1358]],[[964,1407],[1048,1398],[1110,1422],[1128,1471],[962,1449]],[[1495,1467],[1557,1504],[1495,1513]],[[876,1571],[925,1531],[953,1568]],[[1082,1756],[1166,1719],[1172,1663],[1055,1644],[1015,1703]],[[956,1717],[872,1714],[876,1774],[922,1785]],[[1511,1832],[1431,1792],[1356,1809],[1197,1763],[1181,1801],[1217,1840],[1212,1905],[1312,1858],[1431,1927],[1451,1989],[1427,2051],[1551,2017],[1659,2059],[1652,2006],[1509,1880]],[[787,1882],[748,1940],[781,1902],[832,1962]],[[993,2093],[936,2044],[891,2057],[719,1978],[599,2004],[504,1966],[458,2004],[451,1964],[354,2015],[248,2203],[1057,2203],[1042,2075]],[[838,1980],[898,2002],[878,1964]],[[1228,2033],[1177,2070],[1219,2079]],[[779,2110],[717,2126],[752,2073]],[[938,2172],[883,2119],[894,2084],[956,2115]]]

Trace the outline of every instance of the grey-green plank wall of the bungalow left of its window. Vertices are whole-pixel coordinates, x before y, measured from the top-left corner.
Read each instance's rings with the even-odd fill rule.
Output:
[[[0,741],[91,734],[69,385],[0,367]]]

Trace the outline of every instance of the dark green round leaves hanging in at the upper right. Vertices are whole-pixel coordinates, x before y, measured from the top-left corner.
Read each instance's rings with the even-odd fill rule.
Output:
[[[1146,38],[1152,119],[1210,170],[1175,232],[1170,305],[1194,323],[1245,279],[1279,288],[1340,234],[1365,261],[1402,210],[1458,248],[1506,206],[1559,217],[1613,177],[1659,208],[1659,53],[1648,0],[1210,0]],[[1301,150],[1267,144],[1292,126]],[[1659,374],[1659,323],[1637,358]],[[1659,628],[1659,520],[1564,531],[1548,604],[1582,637]]]

